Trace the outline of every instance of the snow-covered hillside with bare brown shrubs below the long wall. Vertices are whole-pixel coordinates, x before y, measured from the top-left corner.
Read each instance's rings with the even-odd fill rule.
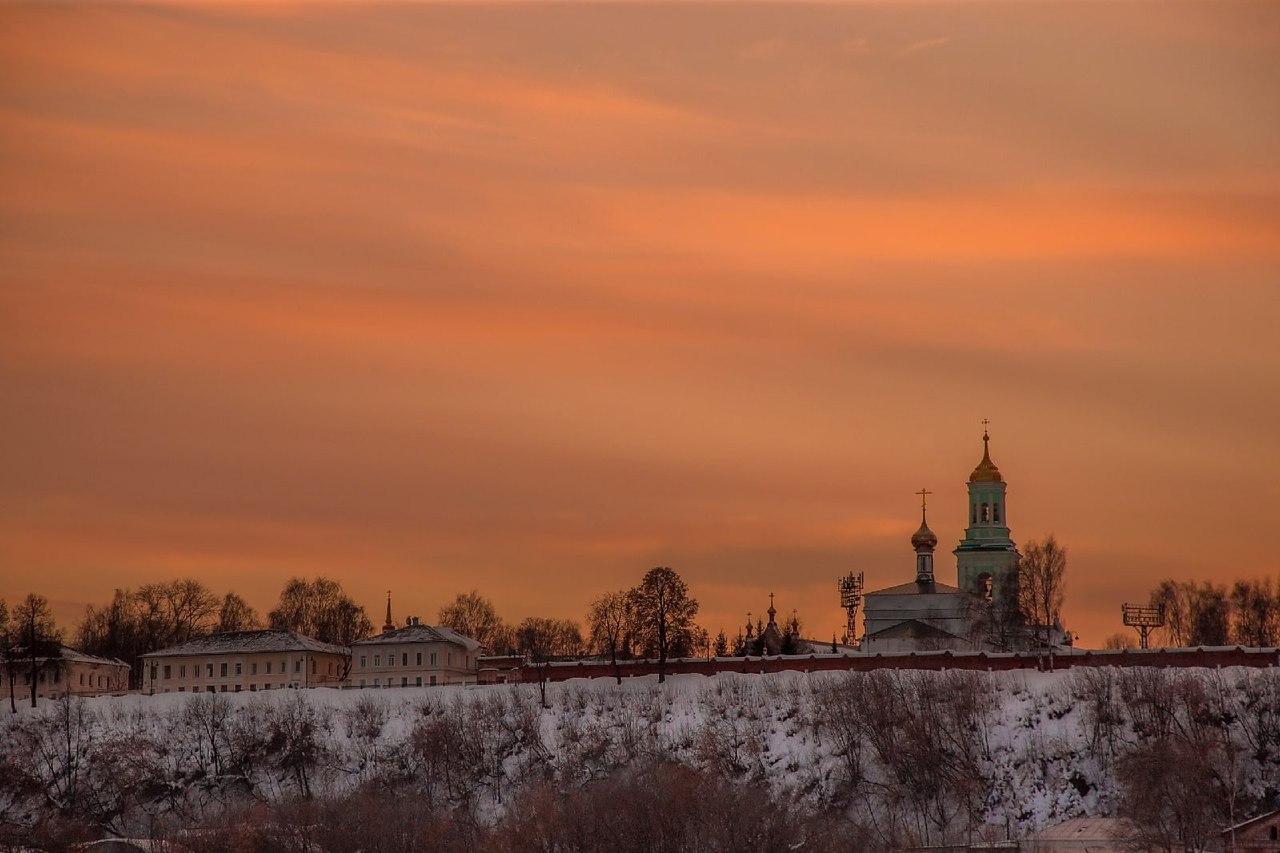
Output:
[[[0,724],[3,830],[29,841],[56,817],[172,833],[248,806],[412,792],[484,831],[532,789],[675,765],[893,848],[1112,815],[1129,766],[1157,748],[1203,762],[1194,777],[1224,816],[1280,789],[1275,670],[686,675],[547,697],[545,710],[538,685],[50,702]]]

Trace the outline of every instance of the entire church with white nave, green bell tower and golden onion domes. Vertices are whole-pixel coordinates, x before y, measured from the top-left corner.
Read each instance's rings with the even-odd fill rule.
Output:
[[[986,425],[986,424],[984,424]],[[982,461],[968,482],[969,524],[955,548],[956,585],[934,576],[938,537],[929,529],[920,489],[920,528],[911,534],[915,579],[877,589],[864,598],[861,651],[1012,651],[1025,648],[1025,630],[1007,630],[1007,602],[1016,601],[1018,547],[1010,538],[1006,483],[991,461],[991,435],[983,429]],[[1057,629],[1061,635],[1061,628]]]

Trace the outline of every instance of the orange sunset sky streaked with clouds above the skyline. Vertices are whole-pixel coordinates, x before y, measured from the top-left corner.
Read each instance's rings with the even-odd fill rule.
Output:
[[[0,6],[0,597],[1280,576],[1280,4]]]

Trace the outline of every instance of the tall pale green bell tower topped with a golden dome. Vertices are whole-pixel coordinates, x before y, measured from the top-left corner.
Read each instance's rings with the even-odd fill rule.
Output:
[[[1016,583],[1018,547],[1009,538],[1006,483],[991,461],[991,435],[982,421],[982,461],[969,475],[969,526],[955,549],[956,585],[984,598]]]

